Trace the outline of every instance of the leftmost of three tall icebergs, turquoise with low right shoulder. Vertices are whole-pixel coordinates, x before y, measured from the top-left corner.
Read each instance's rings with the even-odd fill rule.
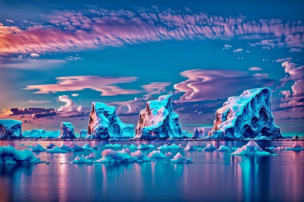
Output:
[[[93,102],[87,126],[88,139],[133,138],[134,125],[124,124],[116,115],[115,107]]]

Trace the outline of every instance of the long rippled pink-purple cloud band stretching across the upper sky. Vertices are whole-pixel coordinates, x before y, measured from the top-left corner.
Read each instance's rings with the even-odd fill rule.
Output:
[[[263,47],[304,47],[301,21],[212,16],[190,10],[86,9],[54,11],[44,24],[0,24],[0,55],[44,54],[169,40],[259,39]],[[263,41],[274,40],[274,41]],[[274,45],[273,45],[274,44]]]

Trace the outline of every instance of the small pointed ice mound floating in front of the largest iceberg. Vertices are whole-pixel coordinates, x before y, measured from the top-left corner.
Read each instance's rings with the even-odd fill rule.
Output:
[[[270,155],[270,153],[261,149],[254,140],[250,140],[246,145],[237,148],[231,155]]]

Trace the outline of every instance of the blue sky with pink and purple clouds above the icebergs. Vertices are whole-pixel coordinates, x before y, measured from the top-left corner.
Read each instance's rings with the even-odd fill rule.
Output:
[[[0,1],[0,119],[86,129],[92,102],[137,124],[172,95],[189,134],[230,96],[272,90],[275,124],[304,136],[304,3]]]

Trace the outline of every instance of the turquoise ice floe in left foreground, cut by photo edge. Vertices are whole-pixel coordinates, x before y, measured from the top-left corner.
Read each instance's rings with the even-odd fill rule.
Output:
[[[44,163],[28,149],[18,151],[12,145],[0,146],[0,164]]]

